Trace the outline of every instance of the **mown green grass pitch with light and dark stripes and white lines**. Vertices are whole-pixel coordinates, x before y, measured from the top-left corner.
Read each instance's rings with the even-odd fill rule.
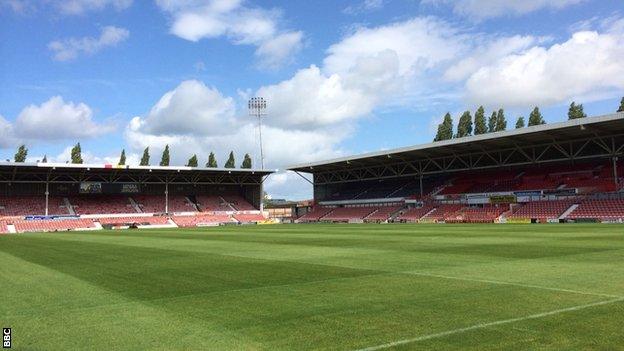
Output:
[[[624,349],[624,226],[0,236],[17,350]]]

